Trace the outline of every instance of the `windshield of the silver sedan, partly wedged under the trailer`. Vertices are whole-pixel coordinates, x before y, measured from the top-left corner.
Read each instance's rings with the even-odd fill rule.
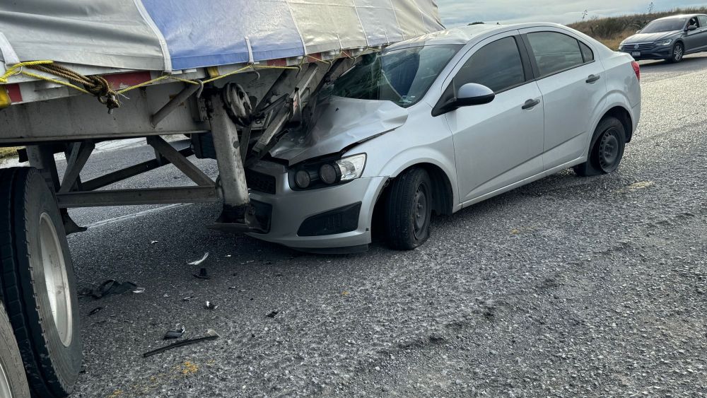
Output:
[[[369,54],[334,82],[333,95],[390,100],[401,107],[417,103],[461,45],[428,45]]]

